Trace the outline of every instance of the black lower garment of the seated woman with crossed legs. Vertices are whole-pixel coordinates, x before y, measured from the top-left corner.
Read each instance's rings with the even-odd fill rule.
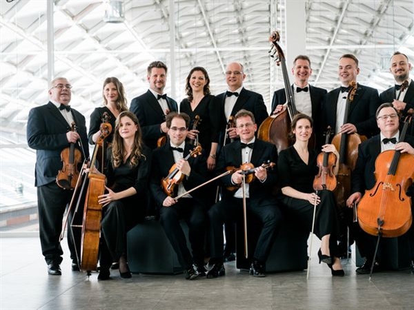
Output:
[[[318,192],[321,202],[316,207],[314,234],[322,239],[323,236],[331,235],[329,238],[329,251],[331,256],[338,256],[337,234],[338,217],[336,201],[333,193],[328,190]],[[284,196],[282,203],[288,211],[293,212],[302,226],[308,231],[312,231],[313,208],[308,200],[297,199]]]

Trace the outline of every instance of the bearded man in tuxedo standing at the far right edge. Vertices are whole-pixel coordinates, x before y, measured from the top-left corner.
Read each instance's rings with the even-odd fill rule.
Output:
[[[382,103],[392,102],[402,114],[402,119],[414,112],[414,83],[410,79],[411,63],[406,54],[395,52],[391,57],[390,72],[395,79],[395,85],[380,94]],[[408,87],[402,87],[406,81]],[[398,98],[398,99],[397,99]],[[414,125],[411,123],[408,134],[414,136]]]

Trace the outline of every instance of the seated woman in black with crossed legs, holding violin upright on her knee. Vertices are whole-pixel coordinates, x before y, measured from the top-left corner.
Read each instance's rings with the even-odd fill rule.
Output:
[[[326,262],[333,276],[344,276],[341,260],[337,257],[337,211],[333,193],[324,189],[317,194],[313,190],[313,180],[318,173],[317,153],[308,149],[308,141],[313,130],[313,120],[306,114],[297,114],[292,121],[295,143],[279,154],[277,167],[281,183],[282,205],[297,216],[302,225],[311,231],[313,208],[316,203],[315,234],[322,240],[318,251],[319,263]],[[339,154],[335,146],[327,144],[322,152]]]

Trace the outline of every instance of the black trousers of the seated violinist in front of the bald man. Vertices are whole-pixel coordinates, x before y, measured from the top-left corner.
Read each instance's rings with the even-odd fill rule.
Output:
[[[275,240],[282,213],[277,207],[275,199],[246,199],[248,214],[255,216],[262,223],[262,231],[257,240],[253,257],[266,262],[270,249]],[[208,211],[209,236],[212,258],[223,258],[223,224],[237,221],[242,224],[243,200],[242,198],[225,198],[211,207]]]

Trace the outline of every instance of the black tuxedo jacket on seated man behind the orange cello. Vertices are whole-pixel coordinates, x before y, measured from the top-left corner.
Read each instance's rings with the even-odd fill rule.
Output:
[[[404,141],[414,147],[414,137],[406,136]],[[381,153],[380,135],[364,141],[358,146],[358,159],[352,173],[351,192],[361,192],[373,188],[375,185],[375,160]]]

